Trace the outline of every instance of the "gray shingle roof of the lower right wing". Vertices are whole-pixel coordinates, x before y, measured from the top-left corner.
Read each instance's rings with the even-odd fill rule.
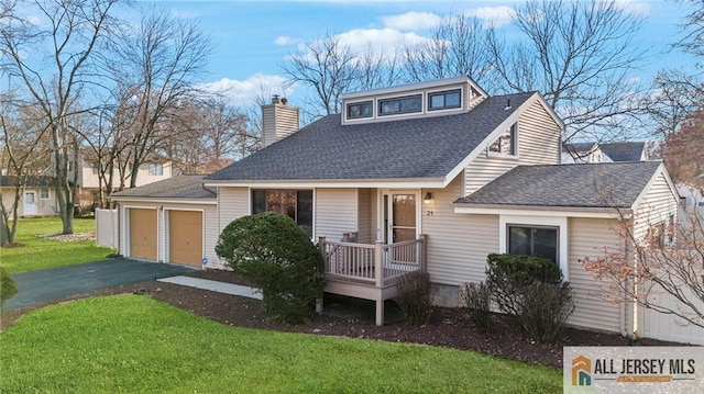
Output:
[[[660,161],[519,166],[459,204],[631,207]]]

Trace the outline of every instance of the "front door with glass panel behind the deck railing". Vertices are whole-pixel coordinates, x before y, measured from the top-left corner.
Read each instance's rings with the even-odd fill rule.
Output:
[[[393,244],[416,239],[417,204],[415,192],[384,194],[384,243]]]

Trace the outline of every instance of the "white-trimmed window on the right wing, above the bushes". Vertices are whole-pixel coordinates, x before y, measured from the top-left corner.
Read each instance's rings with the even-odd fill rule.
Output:
[[[508,225],[508,252],[559,261],[558,227]]]

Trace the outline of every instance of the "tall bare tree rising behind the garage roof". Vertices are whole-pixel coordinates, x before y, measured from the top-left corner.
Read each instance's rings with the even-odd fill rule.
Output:
[[[151,159],[170,138],[166,119],[177,116],[182,103],[199,92],[197,78],[204,72],[211,53],[209,38],[190,21],[153,9],[145,13],[139,31],[117,48],[120,61],[113,72],[125,92],[120,103],[130,116],[130,188],[136,185],[141,165]]]

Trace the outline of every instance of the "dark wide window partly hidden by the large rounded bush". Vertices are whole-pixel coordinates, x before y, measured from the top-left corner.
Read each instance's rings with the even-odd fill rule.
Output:
[[[252,214],[278,212],[312,237],[312,190],[252,190]]]

